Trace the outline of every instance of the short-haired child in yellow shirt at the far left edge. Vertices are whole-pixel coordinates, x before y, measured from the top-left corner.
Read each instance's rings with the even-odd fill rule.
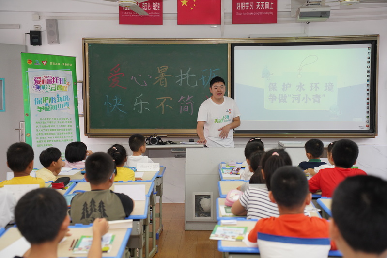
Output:
[[[14,178],[0,182],[0,187],[5,184],[39,184],[45,187],[41,178],[31,177],[33,169],[33,149],[24,142],[16,142],[7,150],[7,166],[14,172]]]

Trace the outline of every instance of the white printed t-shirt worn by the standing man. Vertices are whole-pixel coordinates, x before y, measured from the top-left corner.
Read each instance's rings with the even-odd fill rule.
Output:
[[[201,103],[197,121],[205,121],[204,137],[208,147],[234,147],[234,130],[230,130],[227,138],[220,138],[218,129],[232,123],[239,117],[239,109],[235,100],[224,97],[222,104],[216,104],[211,98]]]

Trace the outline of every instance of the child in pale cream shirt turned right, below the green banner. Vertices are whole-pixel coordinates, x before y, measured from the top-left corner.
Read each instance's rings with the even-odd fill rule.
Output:
[[[45,182],[57,180],[56,176],[64,166],[61,151],[54,147],[47,148],[40,153],[39,160],[44,168],[36,171],[36,177],[43,179]]]

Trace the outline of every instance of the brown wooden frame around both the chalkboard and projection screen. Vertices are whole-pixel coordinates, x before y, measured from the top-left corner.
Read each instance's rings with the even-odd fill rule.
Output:
[[[231,96],[231,44],[233,43],[283,43],[283,42],[326,42],[326,41],[362,41],[376,40],[376,88],[375,88],[375,124],[373,133],[235,133],[234,137],[329,137],[329,138],[374,138],[378,129],[378,68],[379,68],[379,35],[353,35],[353,36],[318,36],[318,37],[279,37],[279,38],[202,38],[202,39],[128,39],[128,38],[82,38],[83,55],[83,94],[84,94],[84,122],[85,135],[88,137],[128,137],[135,133],[144,135],[162,134],[167,137],[197,137],[196,128],[192,129],[93,129],[90,128],[90,108],[89,108],[89,44],[227,44],[228,45],[228,65],[227,65],[227,87],[228,96]]]

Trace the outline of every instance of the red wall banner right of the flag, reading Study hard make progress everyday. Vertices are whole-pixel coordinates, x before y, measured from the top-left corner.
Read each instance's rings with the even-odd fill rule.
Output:
[[[232,24],[277,23],[277,0],[232,0]]]

